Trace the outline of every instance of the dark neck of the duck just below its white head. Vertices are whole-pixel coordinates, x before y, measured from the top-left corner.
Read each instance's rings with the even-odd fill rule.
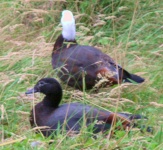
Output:
[[[60,36],[58,36],[58,38],[57,38],[57,40],[56,40],[56,42],[54,44],[53,52],[56,51],[56,50],[60,50],[60,48],[63,48],[64,46],[66,46],[66,44],[64,42],[65,43],[70,42],[70,43],[74,43],[74,44],[77,43],[75,39],[74,40],[66,40],[66,39],[64,39],[63,35],[61,34]]]

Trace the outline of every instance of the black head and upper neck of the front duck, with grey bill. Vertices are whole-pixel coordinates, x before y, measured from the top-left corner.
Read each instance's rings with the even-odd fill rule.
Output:
[[[49,102],[51,106],[58,106],[61,99],[62,99],[62,88],[59,82],[54,78],[43,78],[37,82],[34,88],[28,90],[25,94],[32,94],[32,93],[43,93],[45,94],[45,101],[47,104]]]

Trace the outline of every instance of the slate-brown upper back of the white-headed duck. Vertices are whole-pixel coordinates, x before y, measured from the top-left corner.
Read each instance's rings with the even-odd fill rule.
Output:
[[[53,68],[61,67],[65,64],[73,67],[74,64],[72,62],[85,69],[94,64],[98,64],[99,66],[102,64],[106,65],[106,63],[114,64],[111,57],[92,46],[73,44],[69,48],[63,47],[53,52]]]

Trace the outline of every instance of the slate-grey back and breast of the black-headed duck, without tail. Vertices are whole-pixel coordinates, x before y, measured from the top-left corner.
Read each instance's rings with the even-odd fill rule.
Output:
[[[56,129],[65,129],[72,131],[80,131],[85,122],[86,126],[94,123],[94,132],[105,131],[108,126],[105,124],[96,124],[98,121],[106,121],[106,118],[111,114],[107,111],[99,111],[88,105],[80,103],[63,104],[53,110],[46,107],[35,107],[35,117],[31,114],[31,125],[36,122],[37,126],[48,126],[50,129],[42,130],[45,136],[49,136]],[[34,118],[36,120],[34,121]]]

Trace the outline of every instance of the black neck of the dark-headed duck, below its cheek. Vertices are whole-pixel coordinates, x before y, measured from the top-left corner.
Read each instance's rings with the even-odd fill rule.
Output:
[[[55,94],[47,94],[43,99],[43,104],[48,107],[58,107],[62,99],[62,90],[58,89]]]

